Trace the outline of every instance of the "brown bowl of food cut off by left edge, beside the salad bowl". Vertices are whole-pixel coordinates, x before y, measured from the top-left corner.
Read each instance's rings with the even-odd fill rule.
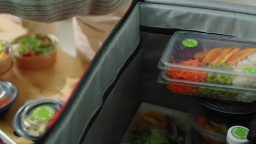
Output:
[[[11,46],[6,41],[0,40],[0,75],[11,67],[12,58],[13,49]]]

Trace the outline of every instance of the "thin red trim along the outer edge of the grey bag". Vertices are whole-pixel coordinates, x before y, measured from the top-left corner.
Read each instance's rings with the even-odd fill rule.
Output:
[[[49,125],[48,125],[48,129],[51,128],[51,126],[53,126],[54,122],[56,121],[56,119],[59,117],[60,113],[63,111],[64,107],[67,105],[67,102],[69,101],[69,99],[71,98],[71,96],[73,95],[75,89],[77,89],[78,83],[82,80],[82,77],[84,76],[84,74],[86,73],[86,70],[88,69],[90,64],[88,64],[88,66],[85,68],[84,73],[82,74],[82,76],[80,77],[79,81],[77,82],[77,84],[75,84],[71,94],[69,95],[68,99],[65,101],[65,103],[62,105],[61,110],[59,112],[57,112],[53,118],[50,119],[49,121]]]

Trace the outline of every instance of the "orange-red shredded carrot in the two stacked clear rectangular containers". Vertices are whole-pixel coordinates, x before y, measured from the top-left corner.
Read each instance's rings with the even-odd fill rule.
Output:
[[[189,61],[182,61],[178,63],[179,65],[188,65],[192,67],[204,67],[205,64],[199,62],[199,59],[189,59]],[[188,70],[188,69],[181,69],[181,68],[169,68],[167,70],[167,75],[172,79],[179,79],[179,80],[188,80],[188,81],[200,81],[205,82],[207,77],[206,71],[199,71],[199,70]],[[181,86],[181,85],[174,85],[172,83],[168,84],[168,89],[170,89],[174,93],[178,94],[196,94],[197,89],[193,88],[192,86]]]

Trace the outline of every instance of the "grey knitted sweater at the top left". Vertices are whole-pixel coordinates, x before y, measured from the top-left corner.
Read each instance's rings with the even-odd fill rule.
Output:
[[[54,22],[78,15],[104,15],[129,0],[0,0],[0,14],[39,22]]]

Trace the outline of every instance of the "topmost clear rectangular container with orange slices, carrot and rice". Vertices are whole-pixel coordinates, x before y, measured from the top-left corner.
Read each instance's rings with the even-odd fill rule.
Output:
[[[170,79],[251,88],[252,91],[256,88],[255,50],[255,41],[178,31],[168,42],[158,67],[166,69]]]

